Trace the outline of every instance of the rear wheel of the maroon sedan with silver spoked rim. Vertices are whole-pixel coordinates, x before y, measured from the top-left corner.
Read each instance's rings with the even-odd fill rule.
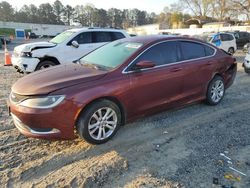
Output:
[[[217,105],[221,102],[225,94],[224,80],[220,76],[215,76],[214,79],[209,83],[207,89],[206,102],[209,105]]]

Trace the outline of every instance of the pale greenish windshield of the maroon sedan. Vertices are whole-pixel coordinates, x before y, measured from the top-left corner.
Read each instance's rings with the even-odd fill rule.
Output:
[[[143,44],[136,42],[111,42],[81,58],[83,65],[93,65],[107,70],[114,69],[128,59]]]

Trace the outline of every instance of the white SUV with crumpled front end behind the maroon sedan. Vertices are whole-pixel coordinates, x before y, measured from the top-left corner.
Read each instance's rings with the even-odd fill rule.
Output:
[[[15,47],[12,64],[21,73],[30,73],[54,65],[71,63],[96,48],[130,37],[124,30],[81,28],[67,30],[49,42]]]

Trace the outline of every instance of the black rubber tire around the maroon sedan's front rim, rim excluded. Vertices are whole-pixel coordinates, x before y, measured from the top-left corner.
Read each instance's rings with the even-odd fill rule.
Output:
[[[93,113],[95,113],[98,109],[104,108],[104,107],[112,108],[116,112],[117,125],[116,125],[114,132],[108,138],[104,140],[95,140],[89,134],[89,130],[88,130],[89,119],[91,118]],[[122,117],[121,117],[121,111],[119,107],[112,101],[100,100],[88,106],[87,109],[83,113],[80,114],[80,117],[77,122],[77,132],[82,139],[84,139],[90,144],[103,144],[109,141],[116,134],[116,132],[119,130],[121,126],[121,122],[122,122]]]

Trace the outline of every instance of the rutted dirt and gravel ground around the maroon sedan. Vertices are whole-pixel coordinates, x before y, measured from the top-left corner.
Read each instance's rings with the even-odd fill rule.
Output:
[[[23,75],[4,67],[1,56],[0,187],[249,188],[250,75],[243,56],[236,54],[236,81],[218,106],[199,103],[140,119],[99,146],[22,136],[6,99]]]

